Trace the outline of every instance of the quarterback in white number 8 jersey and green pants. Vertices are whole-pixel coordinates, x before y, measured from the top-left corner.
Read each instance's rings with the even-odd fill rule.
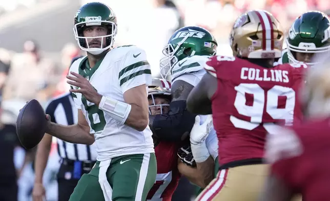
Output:
[[[87,51],[67,76],[78,124],[48,121],[46,133],[70,143],[95,141],[98,156],[70,200],[146,200],[156,178],[146,91],[152,78],[146,53],[135,46],[112,48],[117,18],[102,3],[80,7],[73,30],[80,49]]]

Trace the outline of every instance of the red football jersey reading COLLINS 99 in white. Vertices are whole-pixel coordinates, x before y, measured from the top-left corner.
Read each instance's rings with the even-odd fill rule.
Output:
[[[275,124],[302,118],[297,91],[306,68],[283,64],[267,69],[238,57],[210,58],[205,70],[218,79],[211,102],[221,165],[263,158],[266,133]]]

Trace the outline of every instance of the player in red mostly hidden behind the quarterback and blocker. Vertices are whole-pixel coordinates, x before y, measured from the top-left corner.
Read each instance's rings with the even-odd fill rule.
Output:
[[[153,78],[148,87],[149,114],[169,112],[171,102],[171,82],[166,79]],[[148,193],[147,200],[171,201],[178,186],[180,173],[177,168],[177,150],[180,142],[166,142],[153,135],[157,159],[157,176],[154,186]]]

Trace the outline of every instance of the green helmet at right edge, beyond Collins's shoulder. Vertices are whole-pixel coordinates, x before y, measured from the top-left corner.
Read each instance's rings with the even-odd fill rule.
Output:
[[[306,12],[298,17],[286,38],[289,62],[299,63],[296,59],[296,52],[328,53],[330,50],[329,26],[330,19],[319,11]]]

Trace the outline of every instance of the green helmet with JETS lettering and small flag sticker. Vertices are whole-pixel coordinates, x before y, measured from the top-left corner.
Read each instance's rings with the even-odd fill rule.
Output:
[[[165,78],[183,58],[212,56],[216,54],[216,49],[216,39],[208,30],[195,26],[178,29],[163,48],[165,56],[160,59],[160,74]]]

